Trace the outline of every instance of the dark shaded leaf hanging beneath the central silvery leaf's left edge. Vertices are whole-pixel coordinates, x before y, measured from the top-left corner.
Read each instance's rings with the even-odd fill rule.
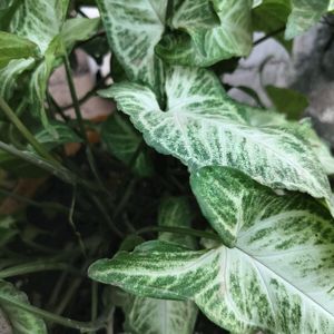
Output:
[[[124,116],[114,114],[104,122],[101,139],[115,157],[128,166],[132,164],[132,170],[136,174],[141,177],[153,174],[149,154],[147,150],[140,149],[143,137]],[[132,161],[136,154],[138,157],[136,161]]]

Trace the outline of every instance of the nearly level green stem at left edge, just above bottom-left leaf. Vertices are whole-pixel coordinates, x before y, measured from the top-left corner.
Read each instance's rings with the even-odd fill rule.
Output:
[[[68,265],[65,263],[28,263],[0,271],[0,278],[3,279],[12,276],[46,271],[63,271],[67,268]]]

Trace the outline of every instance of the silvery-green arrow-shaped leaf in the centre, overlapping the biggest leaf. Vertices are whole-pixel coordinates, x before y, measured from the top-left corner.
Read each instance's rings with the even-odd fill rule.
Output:
[[[327,177],[308,145],[287,127],[249,124],[245,115],[253,109],[233,101],[214,75],[174,67],[166,94],[161,110],[154,92],[140,85],[117,84],[101,92],[116,99],[148,145],[190,170],[230,166],[263,185],[305,191],[332,205]]]

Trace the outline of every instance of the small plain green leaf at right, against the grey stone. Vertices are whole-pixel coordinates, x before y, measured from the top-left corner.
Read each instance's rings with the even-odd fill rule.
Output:
[[[293,89],[266,86],[266,91],[277,111],[288,119],[299,119],[308,106],[307,98]]]

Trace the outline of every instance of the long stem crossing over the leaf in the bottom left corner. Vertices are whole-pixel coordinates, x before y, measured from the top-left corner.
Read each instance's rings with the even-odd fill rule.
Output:
[[[101,320],[97,320],[96,322],[89,322],[89,323],[78,322],[78,321],[73,321],[73,320],[70,320],[67,317],[56,315],[53,313],[38,308],[36,306],[21,303],[19,301],[12,299],[9,296],[0,295],[0,301],[3,303],[8,303],[7,305],[16,306],[23,311],[30,312],[37,316],[40,316],[40,317],[45,318],[46,321],[62,325],[65,327],[75,328],[78,331],[86,331],[86,332],[98,331],[98,330],[101,330],[105,327],[105,321],[101,321]]]

